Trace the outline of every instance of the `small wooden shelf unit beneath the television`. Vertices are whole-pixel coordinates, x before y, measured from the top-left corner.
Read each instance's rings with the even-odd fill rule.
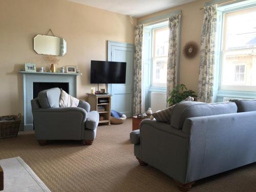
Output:
[[[107,123],[110,125],[111,96],[110,94],[91,94],[88,95],[88,103],[91,105],[92,111],[99,113],[99,123]]]

